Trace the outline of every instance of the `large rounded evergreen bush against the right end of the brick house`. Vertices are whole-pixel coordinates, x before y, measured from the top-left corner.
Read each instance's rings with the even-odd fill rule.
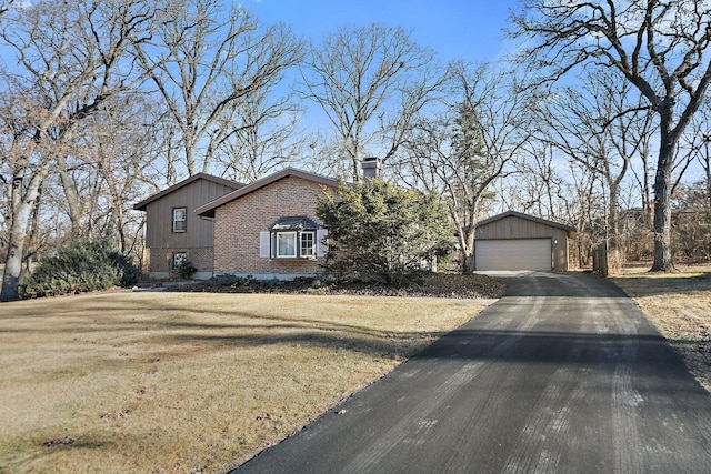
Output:
[[[347,185],[318,203],[329,230],[326,270],[341,280],[400,285],[452,248],[452,228],[439,198],[382,180]]]

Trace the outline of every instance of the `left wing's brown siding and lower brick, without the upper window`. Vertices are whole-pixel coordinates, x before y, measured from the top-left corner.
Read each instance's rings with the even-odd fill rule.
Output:
[[[214,225],[211,220],[196,215],[194,210],[232,191],[233,188],[199,179],[146,206],[151,274],[166,276],[176,252],[187,252],[199,272],[212,273]],[[187,209],[186,232],[172,231],[174,208]]]

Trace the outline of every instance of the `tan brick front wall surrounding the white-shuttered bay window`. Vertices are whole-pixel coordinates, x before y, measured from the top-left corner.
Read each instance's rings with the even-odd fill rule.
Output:
[[[259,256],[259,233],[284,215],[318,221],[316,203],[323,185],[287,177],[218,209],[214,213],[214,274],[317,274],[323,259],[280,261]]]

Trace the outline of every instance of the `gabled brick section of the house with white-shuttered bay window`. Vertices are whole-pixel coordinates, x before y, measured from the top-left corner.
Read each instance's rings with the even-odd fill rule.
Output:
[[[199,206],[214,223],[216,275],[291,280],[321,271],[327,230],[317,201],[338,182],[287,168]]]

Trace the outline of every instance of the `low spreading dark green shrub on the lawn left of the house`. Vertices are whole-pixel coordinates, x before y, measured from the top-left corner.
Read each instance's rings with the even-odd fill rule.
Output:
[[[84,293],[136,284],[140,271],[109,241],[79,242],[43,259],[20,286],[20,297]]]

